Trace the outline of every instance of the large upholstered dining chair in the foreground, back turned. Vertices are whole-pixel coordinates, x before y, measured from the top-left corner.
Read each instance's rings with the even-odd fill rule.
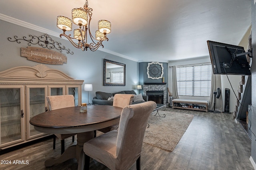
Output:
[[[93,158],[111,170],[127,170],[136,161],[139,170],[146,126],[155,108],[153,101],[124,107],[118,131],[104,133],[84,143],[84,169],[89,169],[90,158]]]

